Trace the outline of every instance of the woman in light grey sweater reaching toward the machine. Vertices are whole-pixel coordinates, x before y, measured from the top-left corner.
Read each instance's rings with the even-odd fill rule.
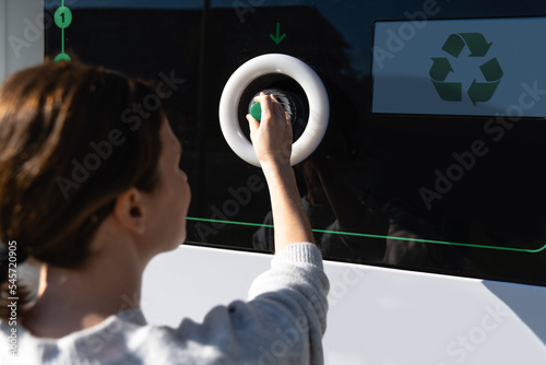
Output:
[[[264,94],[262,121],[248,119],[272,200],[272,268],[249,302],[215,307],[203,323],[154,327],[138,304],[128,308],[150,260],[185,240],[190,203],[163,110],[127,118],[151,93],[70,62],[21,71],[0,89],[0,362],[321,364],[328,279],[289,166],[287,115]],[[9,269],[25,258],[41,266],[33,303],[10,292]]]

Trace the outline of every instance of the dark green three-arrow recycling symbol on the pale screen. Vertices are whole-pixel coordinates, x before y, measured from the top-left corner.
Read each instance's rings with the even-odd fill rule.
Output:
[[[458,33],[451,34],[443,44],[442,50],[448,55],[459,58],[465,46],[468,47],[468,57],[486,57],[492,43],[487,43],[480,33]],[[447,102],[461,102],[463,99],[462,83],[446,82],[448,74],[453,72],[453,68],[447,57],[434,57],[429,75],[440,98]],[[502,78],[502,69],[496,57],[479,66],[479,70],[486,82],[472,81],[466,93],[472,104],[476,106],[478,102],[489,101]]]

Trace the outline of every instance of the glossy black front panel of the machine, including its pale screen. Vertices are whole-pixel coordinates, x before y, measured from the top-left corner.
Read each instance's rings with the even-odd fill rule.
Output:
[[[294,167],[327,259],[546,285],[546,83],[536,61],[502,47],[519,45],[530,59],[544,50],[484,25],[502,25],[495,16],[546,33],[543,2],[84,3],[66,30],[68,52],[178,81],[163,102],[185,145],[189,244],[273,250],[263,175],[227,145],[218,103],[241,64],[285,54],[309,64],[330,98],[324,139]],[[60,30],[48,28],[46,55],[60,49]],[[297,82],[276,74],[244,91],[239,114],[261,89],[305,109]]]

